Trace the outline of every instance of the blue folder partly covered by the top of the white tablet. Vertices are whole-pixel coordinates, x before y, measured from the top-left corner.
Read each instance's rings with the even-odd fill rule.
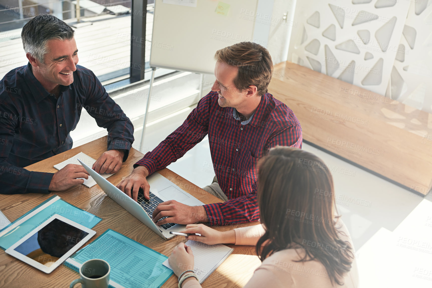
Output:
[[[60,196],[54,195],[0,230],[0,248],[6,250],[11,247],[54,214],[61,215],[87,228],[93,228],[102,220],[92,213],[67,203]]]

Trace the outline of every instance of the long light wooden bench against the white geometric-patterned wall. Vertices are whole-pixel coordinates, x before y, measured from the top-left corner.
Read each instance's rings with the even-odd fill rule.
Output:
[[[289,61],[274,66],[268,91],[309,143],[414,193],[431,189],[432,114]]]

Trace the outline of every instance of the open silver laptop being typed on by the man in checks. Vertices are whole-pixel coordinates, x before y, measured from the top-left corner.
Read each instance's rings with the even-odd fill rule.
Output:
[[[107,194],[111,199],[126,209],[127,212],[135,216],[138,220],[143,222],[147,227],[152,229],[156,234],[165,240],[175,236],[174,234],[169,234],[170,231],[183,231],[186,228],[186,225],[175,223],[167,223],[160,226],[156,225],[156,223],[152,220],[152,214],[153,210],[156,209],[156,206],[158,206],[159,203],[168,200],[176,200],[188,206],[205,205],[200,200],[185,192],[159,173],[153,173],[147,177],[147,181],[150,184],[150,200],[144,198],[143,190],[140,189],[138,193],[138,202],[135,202],[132,198],[111,184],[111,182],[83,163],[83,161],[79,159],[78,161],[81,163],[81,165],[83,165],[84,168],[86,168],[87,172],[89,172],[90,176],[92,176],[93,180],[96,181],[105,194]]]

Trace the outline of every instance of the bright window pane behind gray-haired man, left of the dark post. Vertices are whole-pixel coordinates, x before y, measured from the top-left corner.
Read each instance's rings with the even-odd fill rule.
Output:
[[[0,77],[26,65],[22,27],[49,13],[75,30],[79,65],[102,82],[129,78],[132,0],[0,0]]]

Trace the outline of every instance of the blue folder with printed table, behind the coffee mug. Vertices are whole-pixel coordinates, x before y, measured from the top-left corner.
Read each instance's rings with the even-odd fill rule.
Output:
[[[158,288],[173,274],[162,265],[167,256],[111,229],[68,258],[64,265],[78,272],[90,259],[109,263],[109,285],[113,288]]]

